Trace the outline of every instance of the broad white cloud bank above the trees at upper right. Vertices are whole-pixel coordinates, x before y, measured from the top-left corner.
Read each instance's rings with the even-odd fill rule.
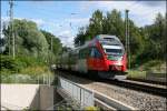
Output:
[[[86,1],[85,1],[86,2]],[[89,4],[89,6],[88,6]],[[129,10],[129,17],[138,27],[151,24],[158,12],[165,14],[166,1],[87,1],[82,7],[87,9],[100,9],[111,11],[117,9],[125,16],[125,10]]]

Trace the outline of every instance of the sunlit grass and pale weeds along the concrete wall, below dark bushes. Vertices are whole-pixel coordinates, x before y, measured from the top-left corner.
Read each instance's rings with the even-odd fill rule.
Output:
[[[43,82],[43,78],[53,77],[47,65],[36,65],[21,69],[19,73],[11,73],[3,70],[1,73],[1,83],[39,83]]]

